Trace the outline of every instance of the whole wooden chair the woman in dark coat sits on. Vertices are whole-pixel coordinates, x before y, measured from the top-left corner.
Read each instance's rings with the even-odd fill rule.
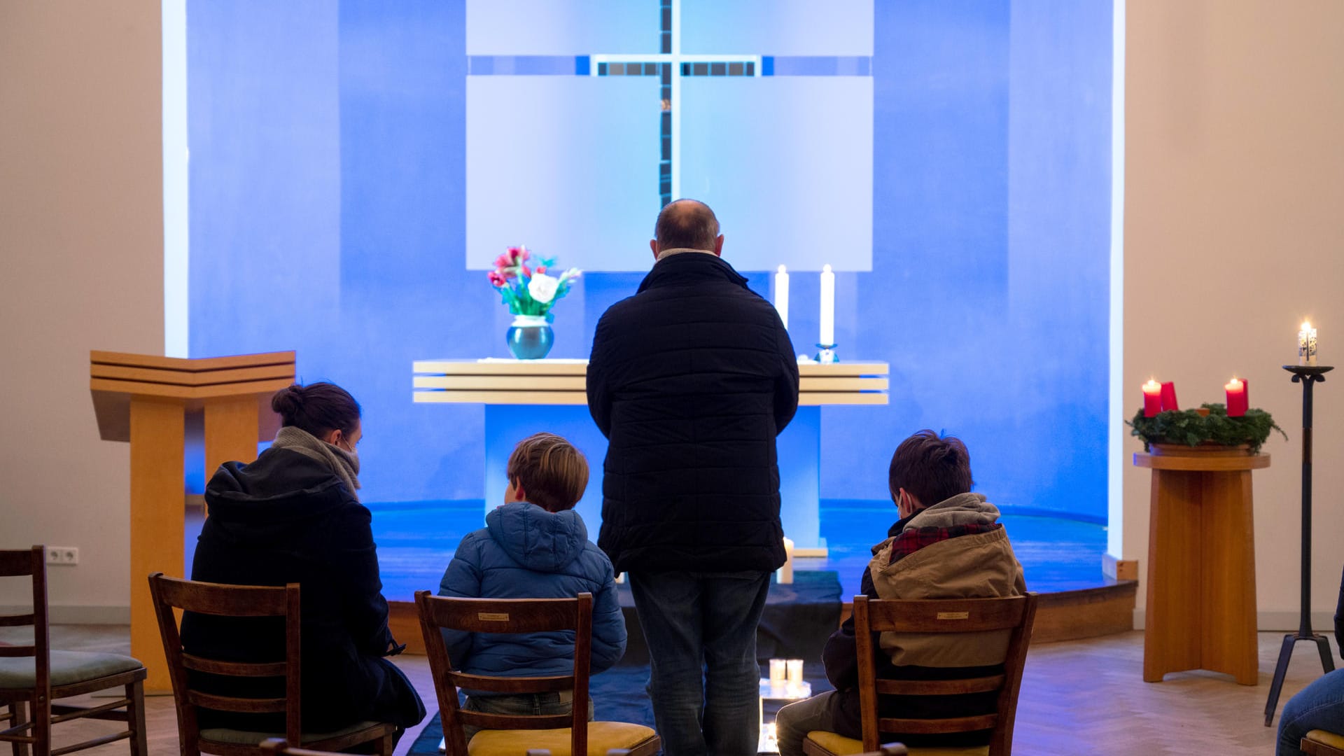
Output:
[[[262,752],[262,743],[271,737],[284,737],[320,751],[343,751],[352,745],[379,743],[382,756],[392,755],[396,726],[386,722],[356,722],[335,732],[309,733],[302,730],[301,655],[300,655],[300,612],[298,584],[280,587],[220,585],[164,577],[163,573],[149,576],[149,592],[153,595],[155,613],[159,616],[159,632],[164,642],[164,655],[168,658],[168,671],[172,675],[173,701],[177,705],[177,732],[183,756],[199,756],[202,752],[220,756],[255,756]],[[177,617],[173,609],[231,617],[284,617],[285,619],[285,659],[277,662],[228,662],[206,659],[187,654],[181,647]],[[284,678],[284,698],[238,698],[218,695],[192,687],[188,670],[226,677]],[[284,713],[284,733],[263,733],[227,728],[200,729],[196,710],[199,708],[238,713]]]

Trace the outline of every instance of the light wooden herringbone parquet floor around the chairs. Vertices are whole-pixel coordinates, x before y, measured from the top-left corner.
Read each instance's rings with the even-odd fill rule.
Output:
[[[4,638],[0,638],[4,639]],[[1259,685],[1242,686],[1227,675],[1183,673],[1161,683],[1142,682],[1144,634],[1125,632],[1090,640],[1034,646],[1023,677],[1013,752],[1019,755],[1270,755],[1274,728],[1263,725],[1265,697],[1282,643],[1282,634],[1259,635]],[[129,650],[125,627],[58,626],[58,648]],[[1320,677],[1314,647],[1294,655],[1282,702]],[[1339,656],[1336,656],[1339,658]],[[425,656],[399,656],[425,698],[437,709]],[[177,755],[177,722],[172,698],[146,701],[151,756]],[[109,732],[112,722],[75,721],[56,726],[56,747]],[[403,756],[415,740],[410,732],[398,745]],[[125,741],[86,751],[93,756],[124,756]]]

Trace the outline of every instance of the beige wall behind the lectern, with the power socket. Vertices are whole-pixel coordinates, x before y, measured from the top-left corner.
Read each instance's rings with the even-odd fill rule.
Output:
[[[79,547],[56,619],[129,603],[128,449],[98,439],[89,350],[163,354],[159,8],[0,1],[0,546]]]

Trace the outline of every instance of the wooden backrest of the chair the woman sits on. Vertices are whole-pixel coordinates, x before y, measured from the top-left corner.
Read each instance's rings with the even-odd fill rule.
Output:
[[[302,743],[301,665],[298,584],[281,587],[220,585],[164,577],[161,572],[149,576],[149,592],[159,616],[159,634],[172,675],[173,700],[177,705],[177,725],[181,730],[183,753],[195,753],[199,741],[196,709],[204,706],[220,712],[249,714],[284,713],[285,740]],[[177,615],[173,609],[198,615],[227,617],[284,617],[285,658],[277,662],[231,662],[206,659],[187,654],[181,647]],[[284,698],[241,698],[196,690],[188,670],[241,678],[285,678]],[[188,747],[190,745],[190,747]]]

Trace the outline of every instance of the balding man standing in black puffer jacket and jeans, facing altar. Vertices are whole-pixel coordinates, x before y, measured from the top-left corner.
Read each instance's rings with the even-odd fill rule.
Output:
[[[798,365],[774,307],[719,257],[708,206],[668,204],[655,237],[653,270],[593,338],[598,546],[630,574],[663,752],[754,755],[757,623],[784,564],[774,439]]]

